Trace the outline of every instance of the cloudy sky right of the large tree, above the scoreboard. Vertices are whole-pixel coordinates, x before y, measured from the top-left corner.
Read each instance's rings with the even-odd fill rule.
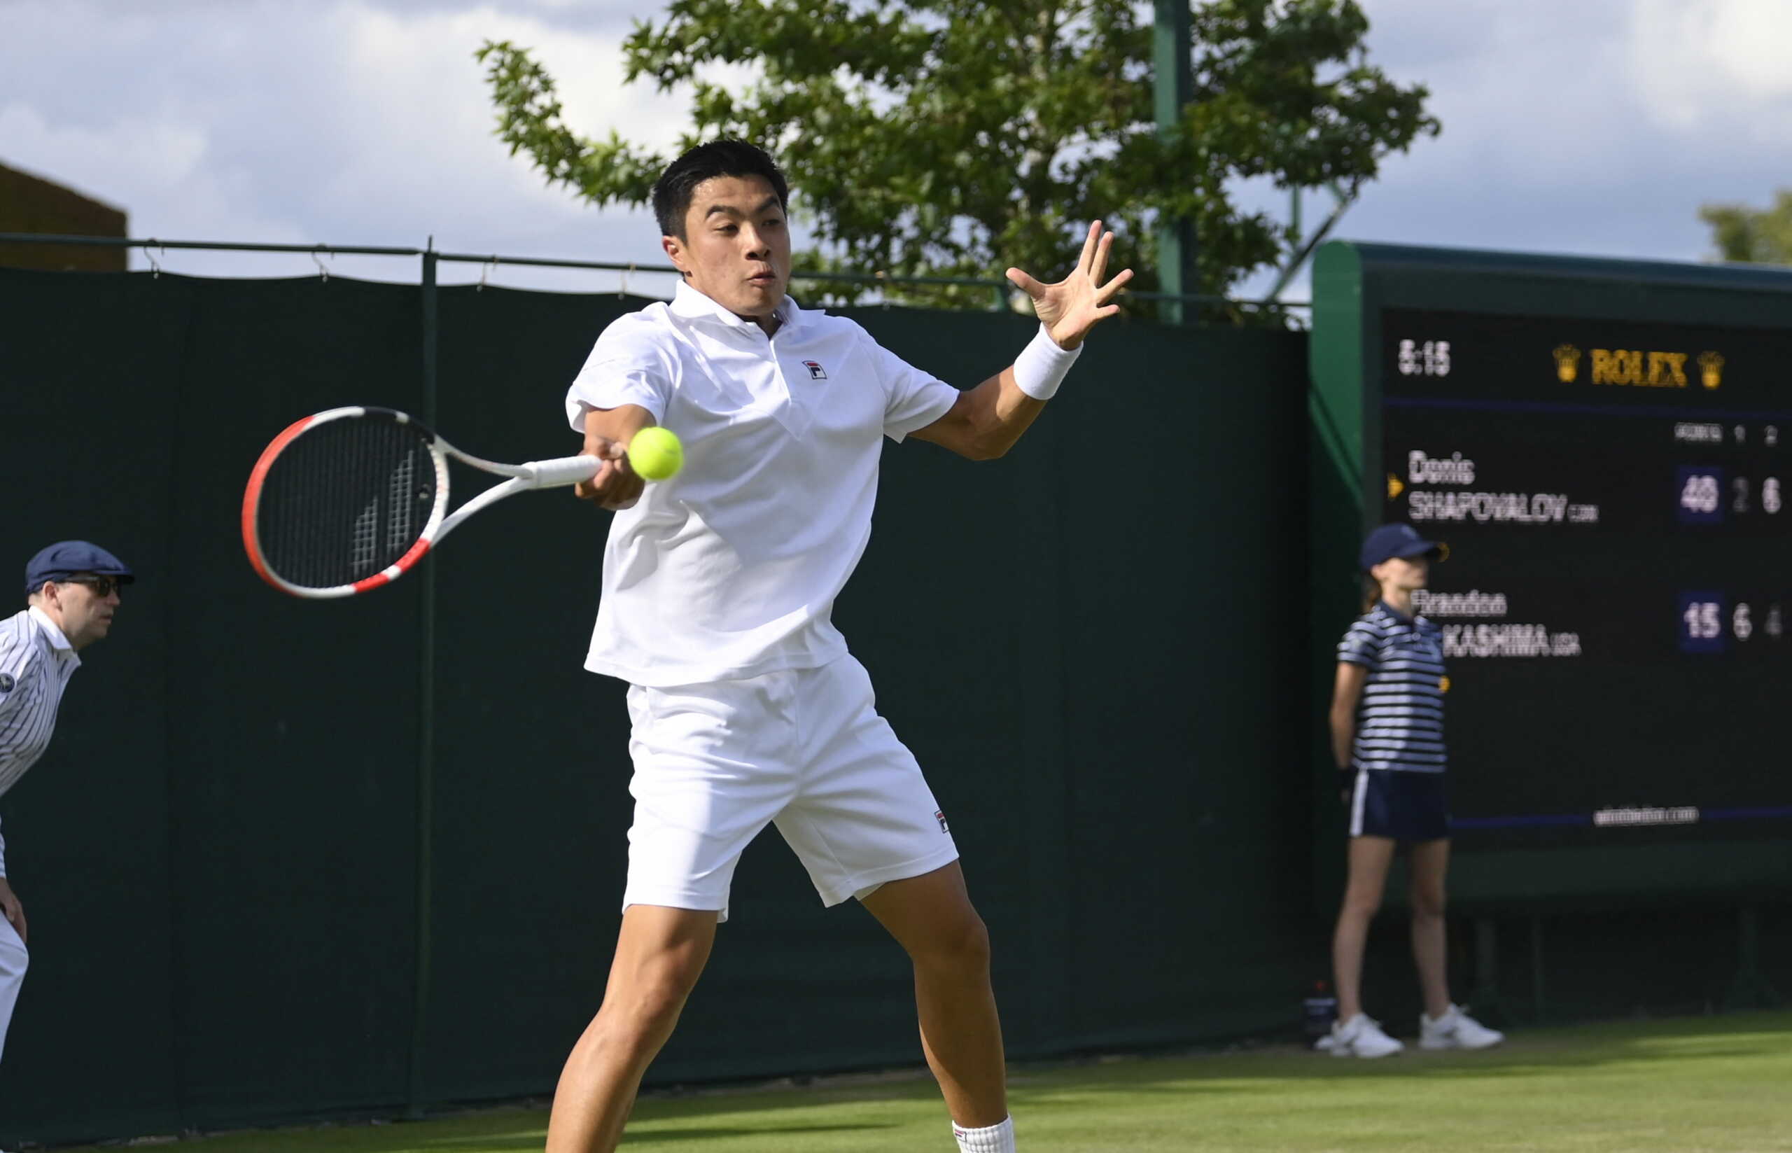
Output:
[[[1697,260],[1710,247],[1699,204],[1765,203],[1792,183],[1776,90],[1792,77],[1769,66],[1792,59],[1792,4],[1364,7],[1371,59],[1428,84],[1444,129],[1392,158],[1339,235]]]

